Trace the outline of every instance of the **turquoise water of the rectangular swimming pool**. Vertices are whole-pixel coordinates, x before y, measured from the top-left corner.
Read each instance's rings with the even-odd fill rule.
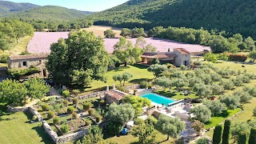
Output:
[[[142,95],[142,98],[149,98],[151,102],[155,102],[160,105],[162,105],[162,103],[164,103],[165,106],[167,106],[170,103],[175,102],[174,100],[171,100],[169,98],[164,98],[158,94],[153,94],[153,93]]]

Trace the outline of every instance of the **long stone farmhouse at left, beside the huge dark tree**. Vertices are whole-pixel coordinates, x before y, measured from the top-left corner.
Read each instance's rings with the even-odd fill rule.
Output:
[[[47,78],[46,62],[49,54],[28,54],[15,55],[8,58],[8,69],[28,69],[30,66],[36,66],[41,71],[34,76]]]

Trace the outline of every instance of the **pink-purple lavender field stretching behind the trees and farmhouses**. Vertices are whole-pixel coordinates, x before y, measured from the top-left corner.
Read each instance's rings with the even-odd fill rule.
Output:
[[[28,52],[32,54],[40,53],[50,53],[50,44],[57,42],[58,38],[68,38],[69,32],[35,32],[34,37],[31,39],[27,46]],[[136,38],[128,38],[131,42],[135,44]],[[166,52],[170,48],[172,51],[174,48],[184,48],[190,52],[199,52],[202,50],[210,50],[209,46],[200,46],[193,44],[186,44],[182,42],[174,42],[169,40],[164,40],[160,38],[145,38],[147,44],[156,46],[158,51]],[[113,46],[119,41],[119,38],[105,38],[106,50],[109,53],[113,53]]]

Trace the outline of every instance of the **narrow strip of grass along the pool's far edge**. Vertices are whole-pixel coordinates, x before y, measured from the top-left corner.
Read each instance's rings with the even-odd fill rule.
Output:
[[[165,91],[165,90],[156,90],[155,93],[156,94],[161,94],[161,95],[169,97],[169,98],[174,98],[176,100],[185,99],[185,98],[199,98],[195,94],[182,95],[180,92],[174,93],[174,92],[168,92],[168,91]]]

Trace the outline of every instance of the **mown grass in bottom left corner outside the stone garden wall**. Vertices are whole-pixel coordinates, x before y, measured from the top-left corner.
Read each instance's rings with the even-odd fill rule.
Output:
[[[44,132],[40,123],[30,123],[30,114],[22,112],[15,114],[4,113],[0,117],[0,143],[54,143]]]

